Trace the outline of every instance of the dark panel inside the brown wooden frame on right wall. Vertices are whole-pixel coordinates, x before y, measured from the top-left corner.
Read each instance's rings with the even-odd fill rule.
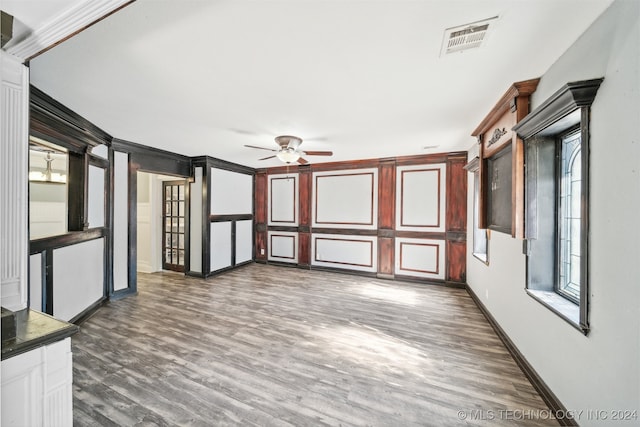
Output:
[[[505,146],[486,160],[487,227],[501,233],[512,230],[512,149]]]

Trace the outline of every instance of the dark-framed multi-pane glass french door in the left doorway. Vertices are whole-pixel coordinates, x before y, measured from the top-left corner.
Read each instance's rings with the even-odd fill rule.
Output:
[[[162,183],[162,269],[184,272],[184,181]]]

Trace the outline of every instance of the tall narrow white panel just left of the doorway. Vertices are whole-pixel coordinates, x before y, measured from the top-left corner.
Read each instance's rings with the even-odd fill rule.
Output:
[[[129,287],[129,155],[113,153],[113,290]]]

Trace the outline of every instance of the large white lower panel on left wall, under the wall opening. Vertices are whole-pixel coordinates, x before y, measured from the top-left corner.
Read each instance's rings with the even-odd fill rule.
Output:
[[[104,295],[105,239],[53,251],[53,315],[69,321]]]

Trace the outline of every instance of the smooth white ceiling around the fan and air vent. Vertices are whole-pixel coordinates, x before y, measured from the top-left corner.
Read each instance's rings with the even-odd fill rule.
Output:
[[[31,81],[114,137],[251,167],[280,163],[243,145],[280,134],[334,152],[313,163],[467,150],[611,2],[137,0],[33,59]],[[496,15],[483,47],[440,57],[446,28]]]

